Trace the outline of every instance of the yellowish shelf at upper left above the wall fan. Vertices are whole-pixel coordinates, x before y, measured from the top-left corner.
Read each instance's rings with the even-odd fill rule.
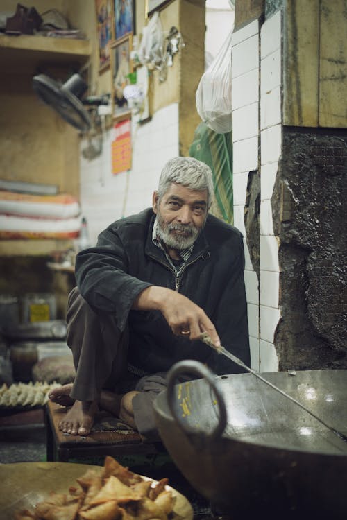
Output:
[[[90,59],[91,49],[90,40],[0,33],[0,71],[36,73],[55,66],[79,69]]]

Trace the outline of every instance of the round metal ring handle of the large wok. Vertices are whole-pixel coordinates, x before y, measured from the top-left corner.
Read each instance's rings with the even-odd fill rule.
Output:
[[[218,423],[209,433],[206,433],[205,431],[198,431],[195,428],[191,428],[190,426],[187,428],[187,426],[183,424],[180,415],[178,415],[177,408],[174,406],[175,401],[177,401],[175,395],[175,382],[179,376],[183,376],[184,374],[192,374],[194,376],[198,376],[198,378],[205,379],[217,399],[217,405],[219,409]],[[183,361],[178,361],[178,363],[175,363],[175,365],[171,367],[167,374],[167,399],[171,414],[174,416],[174,419],[176,419],[176,422],[178,422],[180,428],[182,428],[185,433],[199,433],[200,435],[207,437],[208,440],[213,440],[217,437],[220,437],[226,428],[228,420],[226,413],[226,403],[217,384],[216,375],[212,372],[212,370],[199,361],[185,359]]]

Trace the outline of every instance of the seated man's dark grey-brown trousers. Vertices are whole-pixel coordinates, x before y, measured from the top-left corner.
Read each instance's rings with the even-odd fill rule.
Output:
[[[167,388],[166,372],[137,377],[127,370],[128,327],[121,333],[115,319],[98,313],[72,289],[67,303],[67,345],[76,376],[71,397],[94,401],[102,390],[125,393],[137,390],[133,399],[135,424],[144,440],[160,440],[155,426],[153,400]]]

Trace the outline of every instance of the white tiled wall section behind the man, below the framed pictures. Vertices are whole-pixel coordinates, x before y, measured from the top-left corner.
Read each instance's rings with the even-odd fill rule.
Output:
[[[112,175],[113,131],[105,135],[101,156],[88,161],[81,143],[81,211],[87,218],[90,238],[122,216],[151,206],[162,166],[179,155],[178,103],[155,112],[153,119],[132,129],[133,161],[128,172]]]

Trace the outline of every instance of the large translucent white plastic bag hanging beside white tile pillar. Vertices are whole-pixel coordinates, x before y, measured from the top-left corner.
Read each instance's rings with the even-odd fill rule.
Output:
[[[196,90],[196,110],[205,125],[218,134],[232,130],[231,38],[232,31],[203,73]]]

